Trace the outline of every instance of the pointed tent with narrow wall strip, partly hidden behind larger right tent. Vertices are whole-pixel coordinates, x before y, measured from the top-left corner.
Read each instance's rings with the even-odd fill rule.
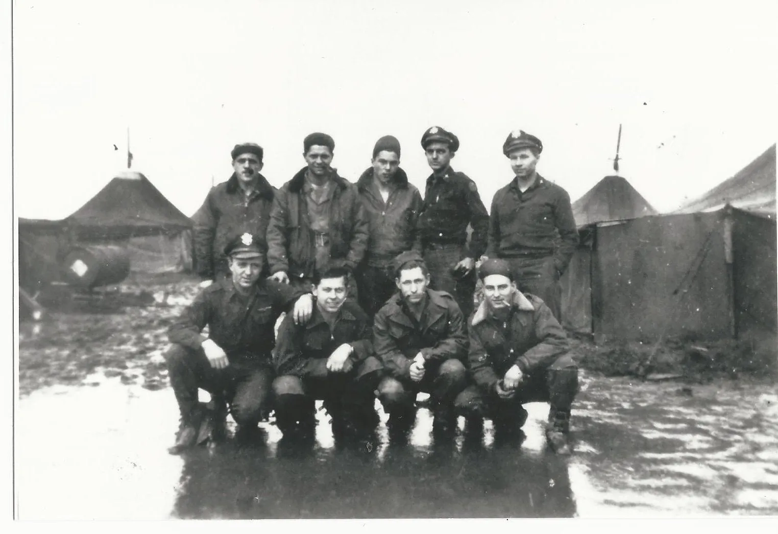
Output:
[[[562,324],[573,332],[591,332],[591,259],[595,223],[636,219],[657,211],[626,178],[606,176],[573,202],[580,244],[562,276]]]

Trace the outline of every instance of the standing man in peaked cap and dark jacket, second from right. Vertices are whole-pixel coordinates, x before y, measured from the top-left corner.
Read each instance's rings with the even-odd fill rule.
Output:
[[[433,126],[422,135],[422,148],[433,170],[419,216],[430,284],[453,295],[467,317],[473,309],[475,262],[486,249],[489,214],[475,181],[451,168],[451,159],[459,149],[456,135]],[[469,245],[468,223],[473,230]]]

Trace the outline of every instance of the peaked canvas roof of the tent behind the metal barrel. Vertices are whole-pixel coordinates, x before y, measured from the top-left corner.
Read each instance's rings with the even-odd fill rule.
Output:
[[[191,228],[191,220],[148,178],[131,171],[114,177],[65,222],[82,240],[173,235]]]

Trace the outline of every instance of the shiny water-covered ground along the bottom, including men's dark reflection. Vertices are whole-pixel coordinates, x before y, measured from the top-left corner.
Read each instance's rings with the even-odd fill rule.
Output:
[[[689,397],[673,395],[677,385],[597,380],[574,409],[570,458],[546,451],[548,406],[539,403],[527,405],[523,441],[496,440],[487,420],[480,442],[466,444],[459,420],[454,441],[436,443],[429,410],[420,408],[407,446],[388,442],[380,410],[374,446],[349,447],[319,410],[307,446],[266,422],[261,442],[171,456],[170,389],[96,372],[85,386],[44,388],[19,402],[19,518],[778,513],[778,421],[775,403],[762,402],[772,392],[701,386]]]

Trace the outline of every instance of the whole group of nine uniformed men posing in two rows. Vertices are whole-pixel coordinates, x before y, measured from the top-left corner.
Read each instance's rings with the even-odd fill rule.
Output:
[[[569,195],[535,170],[543,146],[527,132],[503,145],[514,177],[491,215],[451,167],[457,136],[434,126],[421,145],[433,170],[424,198],[391,135],[356,184],[331,166],[324,133],[307,135],[306,166],[280,189],[261,174],[261,146],[234,147],[233,175],[195,214],[204,289],[169,331],[181,417],[171,453],[224,437],[228,412],[236,439],[261,439],[271,411],[285,438],[310,439],[317,399],[336,439],[359,440],[380,423],[378,398],[402,443],[419,392],[436,440],[454,436],[457,416],[478,436],[484,418],[520,434],[522,405],[549,402],[548,445],[569,453],[578,373],[559,325],[559,276],[578,241]]]

